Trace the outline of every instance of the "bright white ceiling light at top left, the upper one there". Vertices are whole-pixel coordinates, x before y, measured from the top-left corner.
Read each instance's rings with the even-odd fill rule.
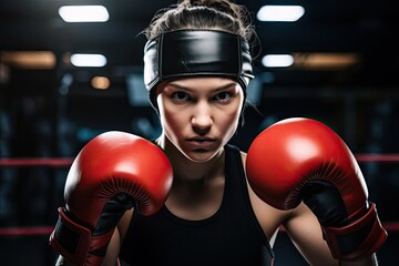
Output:
[[[59,14],[65,22],[105,22],[110,18],[103,6],[63,6]]]

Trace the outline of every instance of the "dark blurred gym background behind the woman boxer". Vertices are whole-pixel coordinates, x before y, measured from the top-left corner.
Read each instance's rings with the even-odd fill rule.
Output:
[[[232,143],[248,147],[272,123],[307,116],[331,126],[354,151],[389,236],[380,265],[399,250],[399,9],[395,0],[241,0],[262,49],[246,125]],[[141,33],[172,0],[0,2],[0,264],[53,265],[48,238],[63,205],[69,165],[110,130],[158,133],[143,86]],[[63,6],[98,6],[102,21],[68,22]],[[296,18],[260,18],[264,6],[296,6]],[[267,14],[267,9],[263,9]],[[73,11],[78,14],[78,11]],[[92,11],[84,11],[91,18]],[[277,21],[276,21],[277,19]],[[90,54],[95,65],[79,61]],[[272,62],[277,55],[279,61]],[[315,228],[318,229],[318,228]],[[306,265],[287,235],[276,265]]]

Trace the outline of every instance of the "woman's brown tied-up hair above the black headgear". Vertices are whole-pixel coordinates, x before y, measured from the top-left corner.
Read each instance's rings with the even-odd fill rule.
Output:
[[[229,0],[180,0],[176,4],[158,10],[143,33],[147,40],[152,40],[163,32],[185,29],[226,31],[241,35],[252,48],[255,43],[259,44],[250,12],[246,7]],[[242,125],[245,108],[255,108],[246,96],[244,103]]]

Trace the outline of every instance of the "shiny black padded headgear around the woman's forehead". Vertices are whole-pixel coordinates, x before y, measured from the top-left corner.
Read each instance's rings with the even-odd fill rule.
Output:
[[[144,83],[155,109],[155,89],[168,79],[225,76],[244,92],[254,78],[248,42],[216,30],[177,30],[149,40],[144,48]],[[154,90],[153,90],[154,89]]]

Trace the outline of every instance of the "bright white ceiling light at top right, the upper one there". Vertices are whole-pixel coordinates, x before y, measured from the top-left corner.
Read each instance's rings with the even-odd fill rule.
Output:
[[[305,13],[300,6],[264,6],[256,18],[259,21],[297,21]]]

